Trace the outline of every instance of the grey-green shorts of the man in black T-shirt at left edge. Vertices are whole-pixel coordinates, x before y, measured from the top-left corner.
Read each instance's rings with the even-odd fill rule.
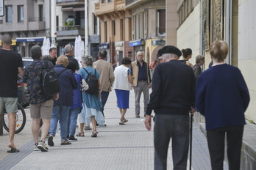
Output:
[[[16,113],[18,111],[18,97],[0,97],[0,114]]]

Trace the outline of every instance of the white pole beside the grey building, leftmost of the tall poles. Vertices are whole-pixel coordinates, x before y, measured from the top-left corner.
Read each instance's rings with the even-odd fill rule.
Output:
[[[57,30],[56,30],[56,0],[51,0],[51,44],[57,48]]]

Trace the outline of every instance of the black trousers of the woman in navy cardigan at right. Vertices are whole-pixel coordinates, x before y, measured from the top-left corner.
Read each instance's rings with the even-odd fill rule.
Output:
[[[240,169],[244,125],[218,127],[207,130],[210,163],[213,170],[223,170],[225,136],[227,135],[227,159],[230,170]]]

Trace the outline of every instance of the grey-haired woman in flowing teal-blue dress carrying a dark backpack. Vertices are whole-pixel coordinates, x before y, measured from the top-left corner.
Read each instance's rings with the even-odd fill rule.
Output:
[[[92,56],[82,56],[82,64],[85,64],[85,67],[79,69],[78,73],[82,75],[82,78],[85,80],[90,75],[96,75],[96,78],[99,81],[99,72],[93,68],[93,57]],[[82,92],[82,112],[79,115],[80,122],[80,132],[77,136],[85,136],[83,131],[86,120],[90,120],[93,124],[93,133],[91,137],[97,137],[96,123],[100,126],[104,126],[104,117],[102,114],[102,102],[101,102],[101,88],[99,82],[99,92],[98,94],[90,94],[88,92]]]

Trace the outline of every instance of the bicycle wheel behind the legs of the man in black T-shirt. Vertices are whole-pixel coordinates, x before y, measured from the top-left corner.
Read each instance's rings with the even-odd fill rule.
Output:
[[[15,114],[15,121],[16,121],[16,127],[15,127],[15,134],[20,133],[21,130],[24,129],[26,125],[26,113],[24,111],[24,108],[18,103],[18,112]],[[9,119],[8,115],[4,113],[4,129],[9,132]]]

